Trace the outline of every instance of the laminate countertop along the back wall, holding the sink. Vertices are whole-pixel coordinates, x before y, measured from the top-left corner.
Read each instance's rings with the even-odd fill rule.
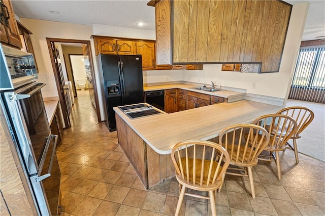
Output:
[[[144,87],[144,91],[154,91],[154,90],[166,90],[166,89],[183,89],[186,91],[198,92],[212,96],[218,96],[222,98],[228,98],[228,103],[234,101],[244,100],[245,93],[242,92],[235,92],[229,90],[220,90],[217,92],[207,92],[203,90],[191,89],[192,87],[199,87],[199,85],[191,85],[191,84],[184,84],[184,83],[177,83],[177,84],[164,84],[164,85],[153,85]],[[222,89],[222,88],[221,88]]]

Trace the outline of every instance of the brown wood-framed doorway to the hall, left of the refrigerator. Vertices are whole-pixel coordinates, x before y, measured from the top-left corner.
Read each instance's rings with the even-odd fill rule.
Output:
[[[98,96],[96,91],[96,81],[94,76],[94,66],[91,55],[91,47],[89,40],[75,40],[75,39],[60,39],[60,38],[46,38],[51,63],[53,67],[56,87],[58,90],[60,105],[62,109],[62,115],[64,120],[64,128],[70,127],[70,107],[69,107],[69,98],[68,91],[69,88],[66,85],[66,81],[71,81],[73,94],[70,95],[77,97],[76,84],[74,81],[73,73],[69,74],[68,71],[72,70],[71,65],[69,67],[66,65],[66,62],[70,62],[69,56],[63,55],[63,52],[60,52],[65,45],[74,45],[82,48],[82,52],[78,53],[84,58],[84,64],[86,69],[86,82],[88,83],[88,92],[89,98],[93,105],[93,108],[96,111],[98,122],[101,122],[100,119],[100,110],[98,109]],[[61,54],[61,55],[60,55]],[[77,53],[76,53],[77,54]],[[63,67],[64,66],[64,67]],[[71,102],[70,102],[71,103]]]

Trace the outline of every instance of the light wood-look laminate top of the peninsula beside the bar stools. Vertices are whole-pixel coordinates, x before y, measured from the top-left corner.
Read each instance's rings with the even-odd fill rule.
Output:
[[[114,110],[154,151],[170,154],[178,142],[209,140],[219,136],[227,126],[250,123],[261,115],[276,113],[281,108],[241,100],[135,119],[129,118],[118,107],[114,107]]]

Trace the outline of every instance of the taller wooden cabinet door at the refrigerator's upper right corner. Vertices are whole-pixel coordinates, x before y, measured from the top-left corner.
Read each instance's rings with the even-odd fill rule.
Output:
[[[142,55],[142,70],[154,70],[154,42],[137,41],[137,54]]]

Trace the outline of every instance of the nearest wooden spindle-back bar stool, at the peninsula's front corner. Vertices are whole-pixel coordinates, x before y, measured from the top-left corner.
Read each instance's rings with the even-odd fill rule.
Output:
[[[177,143],[171,156],[180,187],[175,215],[179,214],[184,195],[209,199],[212,215],[216,215],[215,191],[222,185],[222,176],[229,166],[228,152],[210,141],[189,140]],[[209,196],[185,193],[186,188],[207,191]]]

